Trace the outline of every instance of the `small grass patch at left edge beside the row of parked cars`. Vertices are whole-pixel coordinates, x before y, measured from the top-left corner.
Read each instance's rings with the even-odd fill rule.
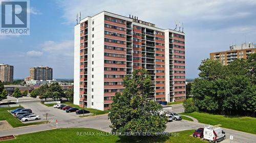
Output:
[[[10,107],[10,109],[13,110],[13,109],[20,108],[20,107]],[[9,108],[0,108],[0,120],[6,120],[14,128],[20,127],[20,126],[38,125],[38,124],[46,123],[45,121],[42,121],[42,122],[24,124],[24,123],[22,123],[22,121],[13,117],[9,112],[7,112],[7,110],[9,110]]]

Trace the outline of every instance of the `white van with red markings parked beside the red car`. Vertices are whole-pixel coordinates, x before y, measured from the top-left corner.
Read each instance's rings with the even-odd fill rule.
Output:
[[[204,139],[217,143],[226,138],[225,132],[221,127],[207,125],[204,126]]]

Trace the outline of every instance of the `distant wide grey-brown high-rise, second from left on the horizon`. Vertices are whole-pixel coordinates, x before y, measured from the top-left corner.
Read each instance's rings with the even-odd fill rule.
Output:
[[[29,69],[30,80],[52,80],[52,68],[38,66]]]

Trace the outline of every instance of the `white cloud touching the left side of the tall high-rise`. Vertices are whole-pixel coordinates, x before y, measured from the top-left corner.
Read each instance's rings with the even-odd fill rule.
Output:
[[[73,40],[66,40],[61,42],[45,41],[41,44],[42,51],[48,52],[52,55],[74,56],[74,42]]]

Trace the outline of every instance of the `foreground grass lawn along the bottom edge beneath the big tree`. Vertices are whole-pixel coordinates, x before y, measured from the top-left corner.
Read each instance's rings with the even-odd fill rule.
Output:
[[[205,142],[199,138],[189,136],[194,131],[195,130],[186,130],[176,132],[176,136],[114,136],[108,135],[106,132],[90,128],[63,128],[18,135],[16,136],[17,139],[1,142]],[[84,135],[81,134],[79,136],[77,135],[78,133],[82,133]]]

